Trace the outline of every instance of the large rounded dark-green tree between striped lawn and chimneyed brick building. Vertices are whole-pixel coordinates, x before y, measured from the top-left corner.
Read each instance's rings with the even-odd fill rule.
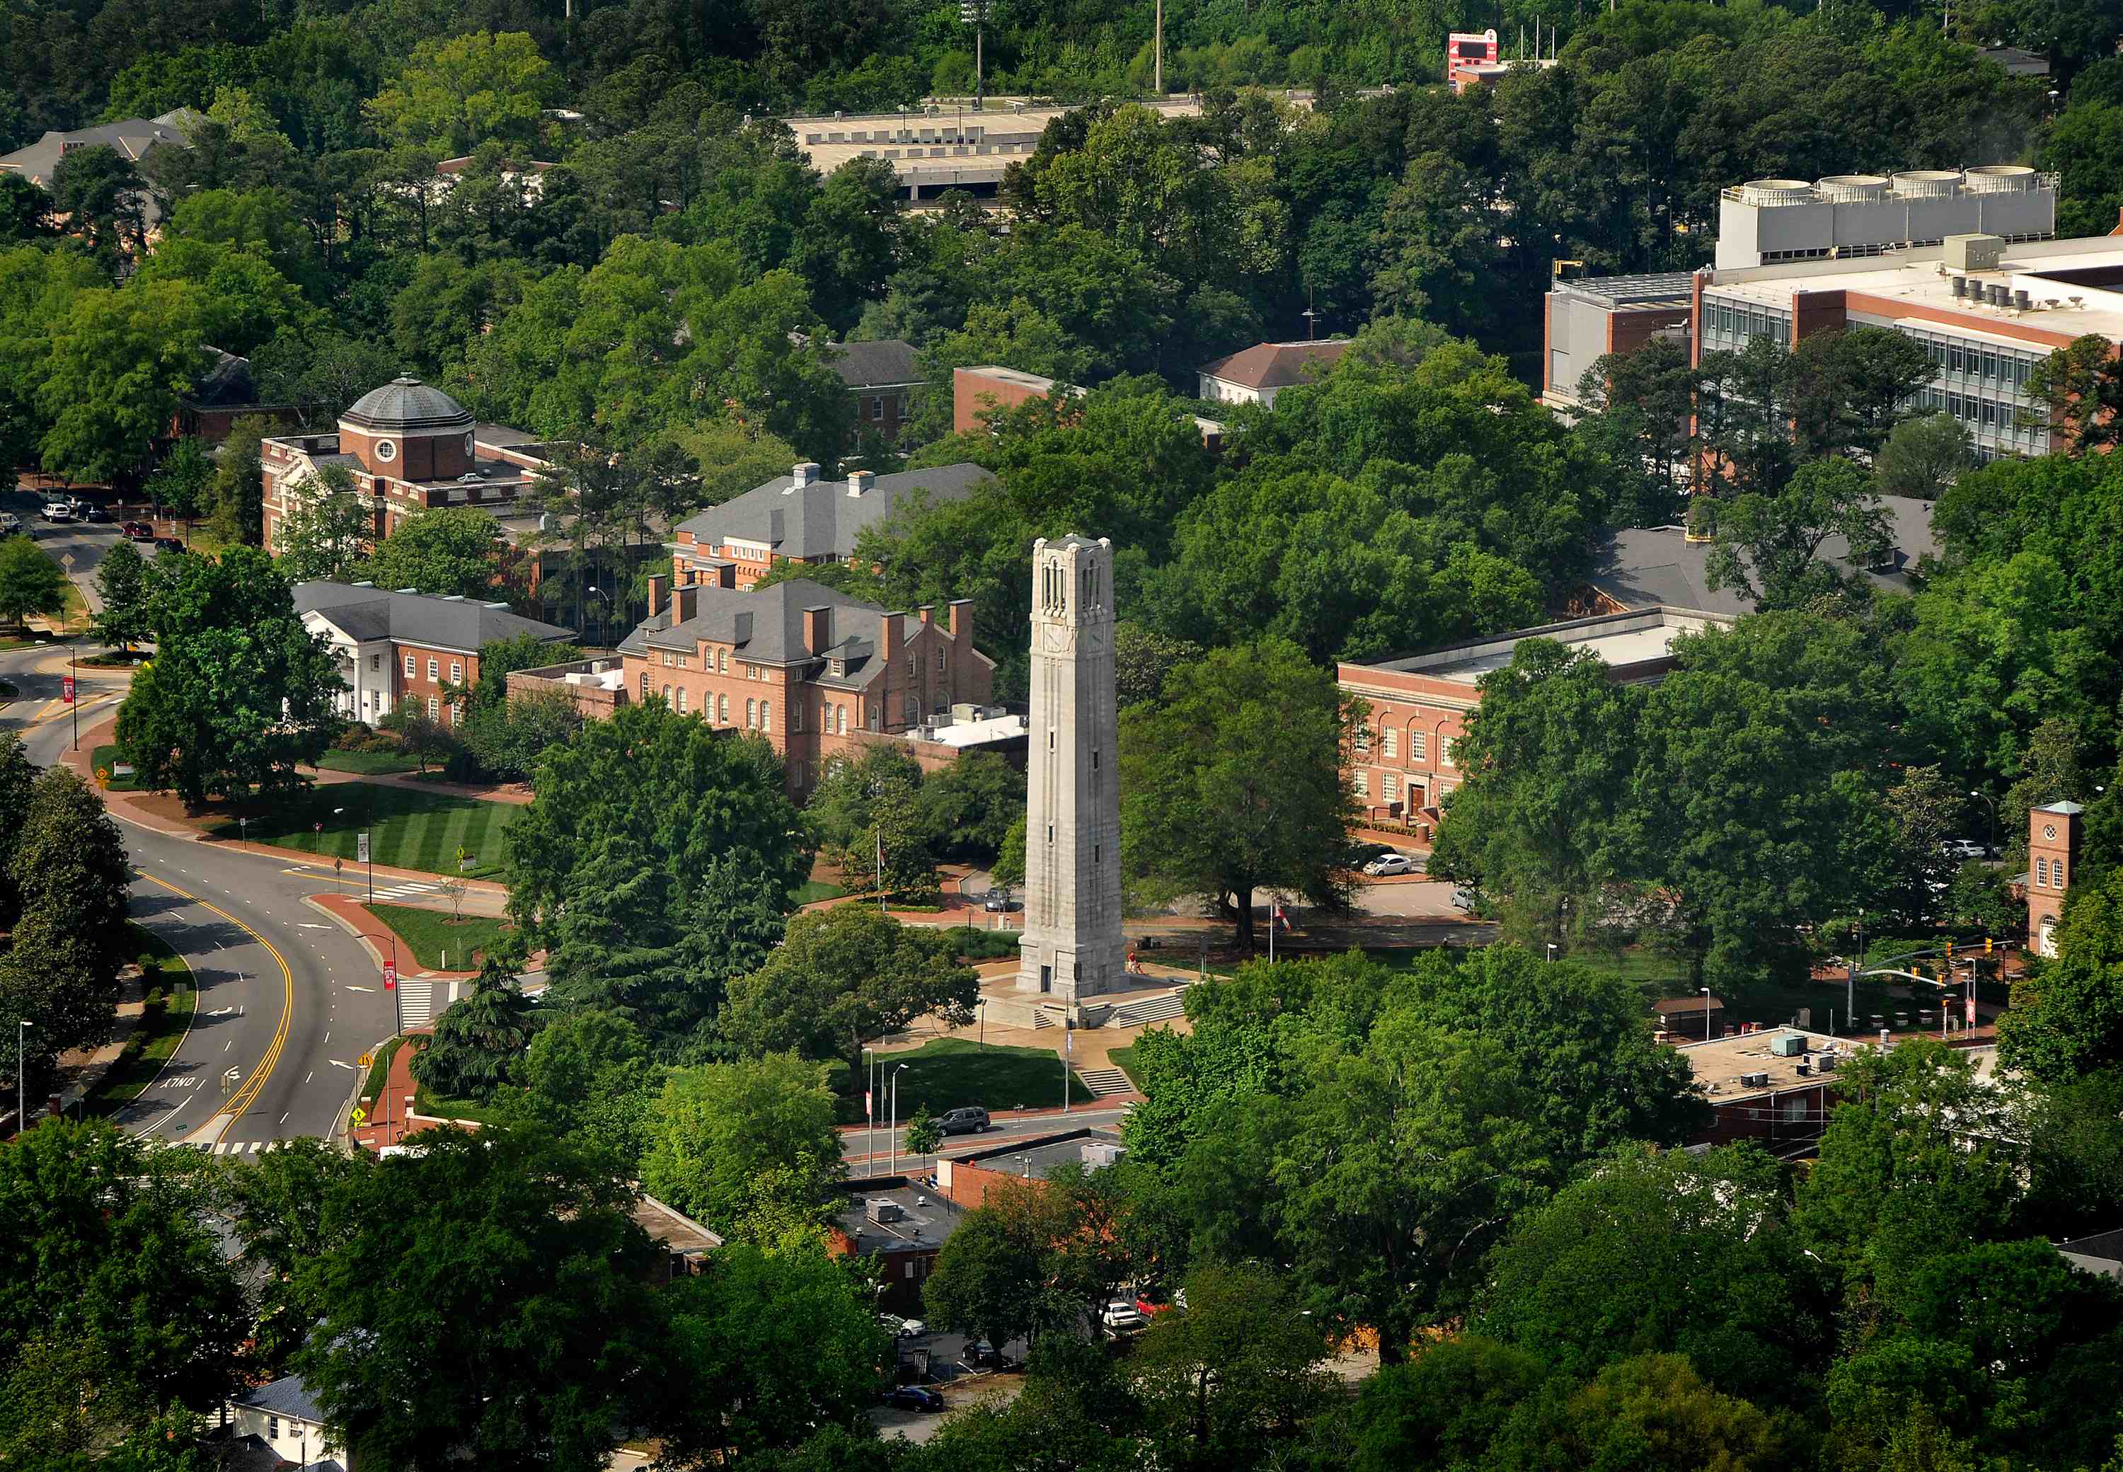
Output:
[[[601,839],[635,845],[690,892],[715,860],[781,894],[809,877],[800,820],[764,741],[730,741],[662,703],[624,705],[546,752],[537,799],[510,824],[510,913],[541,943],[569,882]]]

